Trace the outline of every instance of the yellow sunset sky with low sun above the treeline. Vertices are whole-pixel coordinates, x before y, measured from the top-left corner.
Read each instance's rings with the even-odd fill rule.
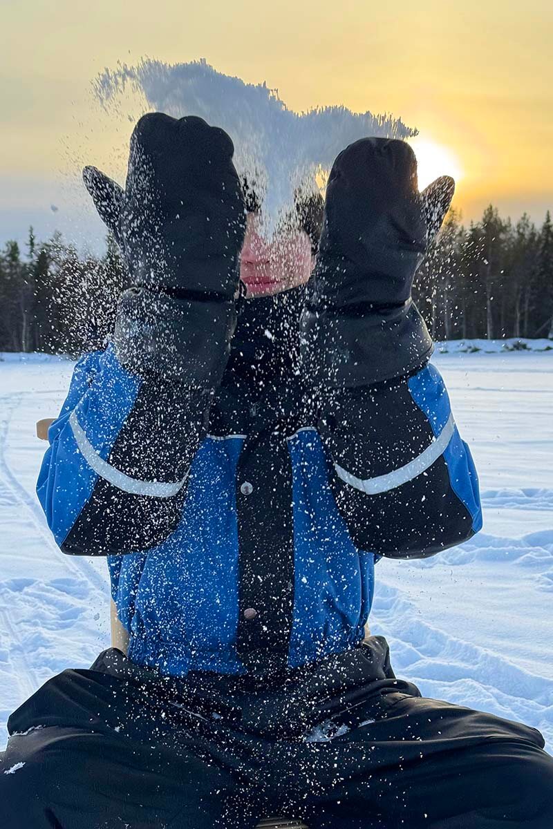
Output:
[[[142,56],[204,57],[266,81],[295,110],[400,116],[420,129],[427,165],[441,158],[458,172],[467,221],[489,201],[538,222],[553,207],[546,0],[0,0],[0,31],[0,242],[31,222],[80,243],[100,234],[75,196],[78,168],[119,172],[132,124],[102,113],[90,82]]]

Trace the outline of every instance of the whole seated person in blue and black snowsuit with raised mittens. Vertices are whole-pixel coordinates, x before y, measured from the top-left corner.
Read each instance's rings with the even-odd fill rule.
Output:
[[[12,715],[0,823],[551,829],[541,735],[422,698],[364,640],[376,559],[481,525],[410,298],[453,182],[420,193],[408,145],[352,144],[308,284],[299,268],[276,293],[254,256],[248,299],[232,154],[201,119],[150,114],[125,190],[85,171],[132,287],[75,369],[38,494],[62,550],[108,556],[129,651]]]

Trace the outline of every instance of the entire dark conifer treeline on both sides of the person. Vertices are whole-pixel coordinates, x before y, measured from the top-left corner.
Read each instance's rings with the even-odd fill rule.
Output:
[[[114,240],[78,255],[60,234],[0,253],[0,351],[77,356],[104,347],[126,277]],[[553,224],[505,221],[491,205],[464,227],[450,211],[415,281],[436,340],[553,337]]]

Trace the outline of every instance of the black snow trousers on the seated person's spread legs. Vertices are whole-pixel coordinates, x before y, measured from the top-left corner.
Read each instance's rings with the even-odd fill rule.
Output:
[[[373,637],[272,683],[116,650],[12,714],[2,829],[551,829],[541,734],[395,680]]]

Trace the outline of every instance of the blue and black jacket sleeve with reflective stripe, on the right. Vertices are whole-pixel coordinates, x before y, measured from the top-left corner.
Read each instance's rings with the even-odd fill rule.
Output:
[[[480,530],[473,458],[434,366],[327,390],[319,432],[337,506],[361,550],[423,558]]]

